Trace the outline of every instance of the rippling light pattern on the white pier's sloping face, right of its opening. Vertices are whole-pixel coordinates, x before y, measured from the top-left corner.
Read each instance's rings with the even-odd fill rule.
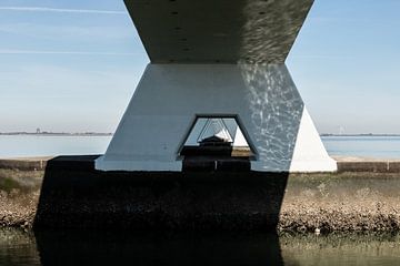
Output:
[[[284,64],[240,64],[247,86],[254,170],[289,171],[303,102]]]

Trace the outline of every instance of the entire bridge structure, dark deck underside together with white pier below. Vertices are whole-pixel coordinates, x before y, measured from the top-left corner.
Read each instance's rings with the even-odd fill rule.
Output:
[[[312,0],[126,4],[151,62],[98,170],[181,171],[197,119],[234,117],[252,171],[336,171],[284,65]]]

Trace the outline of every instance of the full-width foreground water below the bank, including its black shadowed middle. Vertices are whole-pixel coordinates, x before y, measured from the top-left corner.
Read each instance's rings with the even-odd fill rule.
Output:
[[[0,265],[400,265],[399,235],[0,229]]]

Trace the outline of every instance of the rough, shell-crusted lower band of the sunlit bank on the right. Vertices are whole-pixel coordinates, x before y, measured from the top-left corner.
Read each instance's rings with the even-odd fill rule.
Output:
[[[289,204],[281,212],[278,231],[318,234],[399,232],[400,214],[397,209],[392,205],[380,208],[379,203],[369,207],[346,206],[343,203]]]

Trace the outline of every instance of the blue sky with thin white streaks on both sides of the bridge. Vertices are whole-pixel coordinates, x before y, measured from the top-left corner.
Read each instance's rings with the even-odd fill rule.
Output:
[[[314,1],[287,65],[320,133],[400,134],[399,11]],[[0,132],[114,132],[148,63],[122,0],[1,0]]]

